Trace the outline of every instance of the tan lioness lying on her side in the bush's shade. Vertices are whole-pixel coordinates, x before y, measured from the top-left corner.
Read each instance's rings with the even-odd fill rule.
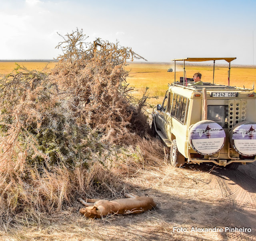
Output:
[[[117,200],[100,200],[78,198],[84,206],[79,212],[89,218],[100,218],[108,214],[124,214],[127,211],[130,213],[142,213],[151,210],[156,206],[153,198],[146,196],[137,196],[132,193],[125,194],[126,198]]]

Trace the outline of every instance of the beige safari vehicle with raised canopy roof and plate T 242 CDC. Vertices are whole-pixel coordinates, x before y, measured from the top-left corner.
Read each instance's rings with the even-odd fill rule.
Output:
[[[228,85],[214,84],[216,60],[229,63]],[[173,59],[174,83],[162,105],[152,111],[152,130],[170,148],[173,166],[213,162],[235,169],[256,160],[256,93],[230,86],[230,62],[236,58]],[[185,61],[213,60],[212,83],[189,86]],[[184,62],[183,77],[176,81],[176,61]]]

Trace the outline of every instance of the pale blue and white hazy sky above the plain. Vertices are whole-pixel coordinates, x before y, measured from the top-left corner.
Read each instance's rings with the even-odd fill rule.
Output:
[[[256,0],[0,0],[0,59],[52,59],[64,35],[82,28],[148,61],[237,57],[256,64]],[[253,41],[254,33],[254,61]]]

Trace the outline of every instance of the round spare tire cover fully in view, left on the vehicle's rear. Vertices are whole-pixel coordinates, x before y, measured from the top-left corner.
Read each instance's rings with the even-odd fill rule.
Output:
[[[190,146],[202,155],[213,155],[224,146],[226,134],[214,121],[199,121],[189,133]]]

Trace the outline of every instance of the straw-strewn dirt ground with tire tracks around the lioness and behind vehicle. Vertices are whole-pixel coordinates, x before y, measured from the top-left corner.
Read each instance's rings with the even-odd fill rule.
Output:
[[[23,220],[23,225],[2,227],[0,239],[256,240],[255,163],[238,170],[164,164],[160,170],[139,171],[140,178],[129,178],[130,191],[152,196],[157,203],[153,211],[90,220],[78,213],[81,205],[76,203],[59,213],[61,223],[52,217],[48,225],[26,227]]]

